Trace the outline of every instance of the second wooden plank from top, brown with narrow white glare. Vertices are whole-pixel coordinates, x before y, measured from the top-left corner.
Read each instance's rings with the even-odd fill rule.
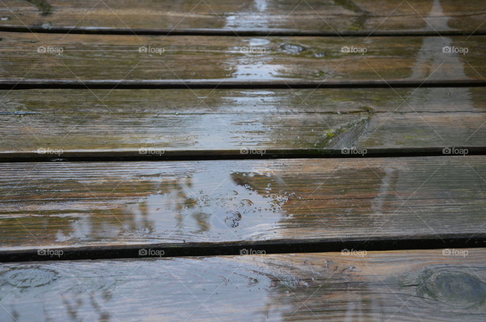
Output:
[[[401,82],[418,87],[424,82],[483,84],[481,75],[486,75],[486,36],[241,38],[11,32],[2,36],[0,46],[0,84],[11,86],[315,88],[388,87]],[[143,47],[153,53],[139,52]],[[346,47],[367,53],[342,52]],[[468,53],[443,52],[444,47]]]

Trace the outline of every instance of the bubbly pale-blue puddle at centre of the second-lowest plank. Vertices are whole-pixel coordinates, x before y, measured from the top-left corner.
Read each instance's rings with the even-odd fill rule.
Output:
[[[252,180],[253,179],[253,180]],[[178,180],[160,181],[157,193],[127,204],[136,229],[145,235],[173,231],[169,235],[203,234],[254,237],[271,231],[285,216],[282,206],[287,191],[272,191],[275,179],[267,172],[191,172]]]

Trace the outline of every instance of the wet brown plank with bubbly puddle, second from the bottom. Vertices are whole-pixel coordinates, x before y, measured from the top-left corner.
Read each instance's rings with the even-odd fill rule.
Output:
[[[2,164],[0,249],[481,237],[485,160]]]

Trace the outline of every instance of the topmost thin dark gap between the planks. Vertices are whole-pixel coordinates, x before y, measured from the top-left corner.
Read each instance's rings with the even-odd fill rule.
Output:
[[[299,29],[265,28],[111,28],[111,27],[44,27],[44,26],[0,26],[5,32],[73,33],[73,34],[126,34],[126,35],[174,35],[174,36],[323,36],[323,37],[361,37],[361,36],[469,36],[486,35],[485,30],[393,30],[393,31],[342,31],[334,32]]]

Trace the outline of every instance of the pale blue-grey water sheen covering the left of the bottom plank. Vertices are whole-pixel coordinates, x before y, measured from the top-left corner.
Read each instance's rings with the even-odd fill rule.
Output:
[[[1,269],[6,273],[0,271],[0,299],[6,309],[0,310],[0,319],[8,321],[13,315],[17,320],[39,321],[52,316],[67,321],[88,316],[93,320],[125,320],[161,313],[170,320],[191,314],[197,319],[213,319],[213,314],[234,314],[228,309],[233,307],[240,310],[240,318],[284,320],[299,309],[296,297],[304,301],[329,292],[326,286],[319,287],[327,272],[316,272],[314,278],[310,274],[317,267],[303,266],[296,274],[285,264],[277,259],[267,266],[261,257],[251,256],[245,260],[206,257],[52,262],[37,267],[5,264]],[[16,286],[18,278],[13,278],[19,275],[22,288]],[[42,283],[49,288],[39,287],[29,275],[43,276]],[[147,303],[147,297],[153,301]],[[201,302],[205,303],[203,308]],[[143,313],[133,305],[144,305]]]

